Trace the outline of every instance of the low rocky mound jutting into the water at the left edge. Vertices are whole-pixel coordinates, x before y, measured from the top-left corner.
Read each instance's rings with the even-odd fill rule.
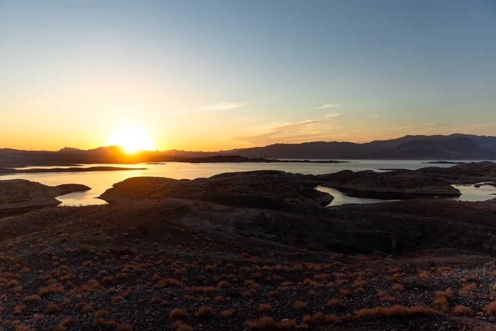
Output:
[[[55,199],[55,197],[90,189],[79,184],[47,186],[25,179],[0,180],[0,211],[7,213],[58,205],[62,202]]]

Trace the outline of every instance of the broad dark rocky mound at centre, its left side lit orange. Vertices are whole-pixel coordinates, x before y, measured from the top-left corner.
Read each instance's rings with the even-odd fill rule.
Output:
[[[225,173],[192,181],[133,177],[114,184],[99,198],[109,203],[176,198],[264,209],[322,209],[333,197],[314,190],[316,183],[312,175],[275,170]]]

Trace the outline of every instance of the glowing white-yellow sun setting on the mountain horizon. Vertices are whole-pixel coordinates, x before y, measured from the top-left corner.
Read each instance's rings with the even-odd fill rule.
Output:
[[[152,150],[153,141],[150,133],[134,125],[126,125],[115,130],[109,138],[109,145],[119,145],[128,153],[138,150]]]

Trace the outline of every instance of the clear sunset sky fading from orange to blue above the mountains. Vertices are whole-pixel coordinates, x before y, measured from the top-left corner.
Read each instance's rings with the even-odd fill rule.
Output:
[[[495,0],[0,0],[0,148],[496,135],[495,36]]]

